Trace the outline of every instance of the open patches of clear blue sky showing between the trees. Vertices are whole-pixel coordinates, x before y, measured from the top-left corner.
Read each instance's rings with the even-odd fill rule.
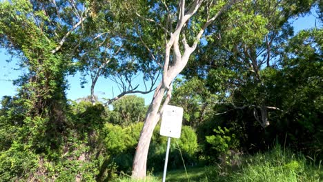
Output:
[[[293,22],[295,33],[299,32],[300,30],[315,27],[315,16],[316,13],[314,10],[312,10],[312,14],[291,21]],[[318,22],[317,26],[319,26]],[[6,50],[0,49],[0,97],[3,97],[4,95],[13,96],[17,93],[17,88],[12,85],[12,80],[17,79],[23,72],[21,70],[15,70],[19,68],[19,66],[16,65],[17,60],[13,59],[12,61],[7,62],[6,60],[8,59],[10,59],[10,55],[6,54]],[[69,90],[67,90],[68,99],[75,100],[90,95],[90,83],[87,83],[84,85],[84,88],[81,88],[80,77],[81,75],[78,73],[75,74],[74,77],[69,76],[67,78],[69,84]],[[88,80],[90,81],[90,79]],[[137,80],[136,82],[140,83],[141,81]],[[112,88],[115,96],[119,94],[119,89],[115,83],[110,80],[100,78],[95,87],[95,94],[97,94],[100,98],[112,98]],[[153,92],[145,95],[139,94],[139,96],[144,97],[145,103],[149,104],[153,97]]]

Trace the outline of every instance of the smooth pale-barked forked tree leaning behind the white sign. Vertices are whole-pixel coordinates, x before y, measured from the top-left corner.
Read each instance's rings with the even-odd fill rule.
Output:
[[[151,4],[150,8],[152,9],[144,8],[146,11],[145,14],[149,14],[155,7],[162,8],[159,10],[162,14],[155,14],[155,17],[148,19],[142,17],[143,15],[140,12],[136,12],[138,17],[142,17],[146,21],[150,21],[155,25],[160,25],[159,23],[163,22],[166,23],[166,26],[159,26],[164,27],[165,33],[163,77],[155,90],[153,101],[150,103],[146,114],[144,127],[141,130],[135,159],[133,161],[133,178],[143,179],[146,176],[146,159],[150,139],[161,117],[164,105],[170,101],[172,92],[171,83],[185,68],[190,55],[197,48],[197,44],[206,28],[224,10],[232,6],[233,3],[235,1],[218,1],[215,3],[213,1],[204,2],[197,0],[188,4],[185,1],[180,1],[178,5],[175,5],[174,3],[167,4],[166,2],[157,1]],[[141,11],[144,10],[141,9]],[[173,25],[175,25],[174,30]],[[181,41],[179,41],[180,39]],[[150,49],[148,48],[148,50]],[[164,99],[164,94],[166,94],[166,99]],[[161,104],[161,102],[163,103]]]

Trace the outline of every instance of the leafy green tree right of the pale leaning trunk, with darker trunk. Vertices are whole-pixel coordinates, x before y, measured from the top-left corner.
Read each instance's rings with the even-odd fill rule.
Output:
[[[189,62],[184,75],[206,79],[211,93],[222,94],[219,103],[231,105],[230,110],[251,108],[255,121],[265,128],[269,125],[268,112],[280,108],[269,105],[265,89],[257,95],[251,90],[264,85],[262,70],[279,66],[282,43],[293,35],[288,20],[306,14],[314,3],[255,1],[224,14],[211,26],[214,33],[206,37],[206,45],[199,46],[197,61]],[[249,92],[239,92],[242,85]],[[247,99],[233,101],[234,94],[244,94]]]

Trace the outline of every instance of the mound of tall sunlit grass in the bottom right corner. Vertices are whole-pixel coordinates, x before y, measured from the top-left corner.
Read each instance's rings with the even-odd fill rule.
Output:
[[[317,181],[323,178],[321,162],[306,160],[302,154],[282,150],[280,145],[265,153],[245,156],[237,172],[228,175],[227,181]]]

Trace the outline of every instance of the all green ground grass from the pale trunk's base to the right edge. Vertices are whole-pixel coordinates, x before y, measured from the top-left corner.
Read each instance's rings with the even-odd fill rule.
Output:
[[[302,154],[293,154],[276,146],[273,150],[253,156],[243,156],[237,170],[208,166],[167,172],[166,181],[244,181],[244,182],[320,182],[323,180],[321,161],[306,159]],[[161,181],[162,172],[148,175],[145,181]],[[123,176],[118,182],[130,182]]]

